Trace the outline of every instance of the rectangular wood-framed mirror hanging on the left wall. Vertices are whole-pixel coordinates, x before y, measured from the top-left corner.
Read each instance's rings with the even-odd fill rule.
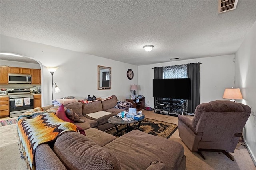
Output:
[[[111,67],[98,65],[98,90],[111,89]]]

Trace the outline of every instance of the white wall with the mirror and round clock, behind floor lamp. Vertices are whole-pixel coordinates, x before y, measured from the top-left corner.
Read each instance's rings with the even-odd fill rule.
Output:
[[[59,69],[54,73],[53,80],[60,87],[60,93],[54,93],[54,99],[68,95],[84,99],[88,95],[96,97],[116,95],[124,100],[131,95],[130,86],[137,84],[136,65],[122,63],[94,55],[78,53],[66,49],[29,42],[1,35],[1,52],[12,52],[39,61],[43,66],[55,66]],[[97,65],[111,67],[111,89],[97,90]],[[42,67],[42,98],[43,105],[52,100],[51,74]],[[128,69],[134,71],[134,78],[126,77]]]

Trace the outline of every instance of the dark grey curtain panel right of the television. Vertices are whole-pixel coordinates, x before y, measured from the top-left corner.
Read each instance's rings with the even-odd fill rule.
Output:
[[[200,85],[200,63],[187,65],[188,78],[190,78],[190,95],[188,100],[188,113],[194,113],[196,106],[200,104],[199,85]]]

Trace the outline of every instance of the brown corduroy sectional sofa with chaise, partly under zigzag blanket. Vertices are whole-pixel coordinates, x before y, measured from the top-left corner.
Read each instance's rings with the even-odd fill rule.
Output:
[[[75,123],[85,129],[86,136],[67,132],[56,141],[41,144],[35,152],[37,170],[185,170],[186,156],[183,146],[166,138],[133,130],[116,138],[103,132],[114,125],[108,117],[123,111],[114,108],[112,100],[91,103],[74,102],[64,105],[76,112],[84,123]],[[52,105],[43,107],[49,109]],[[88,119],[88,113],[112,112],[100,119]],[[93,127],[97,127],[93,128]]]

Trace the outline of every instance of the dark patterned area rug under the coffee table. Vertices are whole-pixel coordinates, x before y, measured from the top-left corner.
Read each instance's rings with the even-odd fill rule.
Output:
[[[138,122],[131,123],[130,126],[138,127]],[[126,125],[120,125],[118,126],[118,129],[120,130],[124,127],[126,127]],[[167,139],[170,138],[170,136],[172,136],[172,134],[175,132],[175,130],[177,130],[177,128],[178,125],[148,118],[143,119],[140,124],[140,129],[143,132]],[[105,132],[114,135],[116,133],[116,128],[112,128]],[[120,137],[124,134],[126,134],[126,130],[122,130],[122,132],[116,134],[116,137]]]

